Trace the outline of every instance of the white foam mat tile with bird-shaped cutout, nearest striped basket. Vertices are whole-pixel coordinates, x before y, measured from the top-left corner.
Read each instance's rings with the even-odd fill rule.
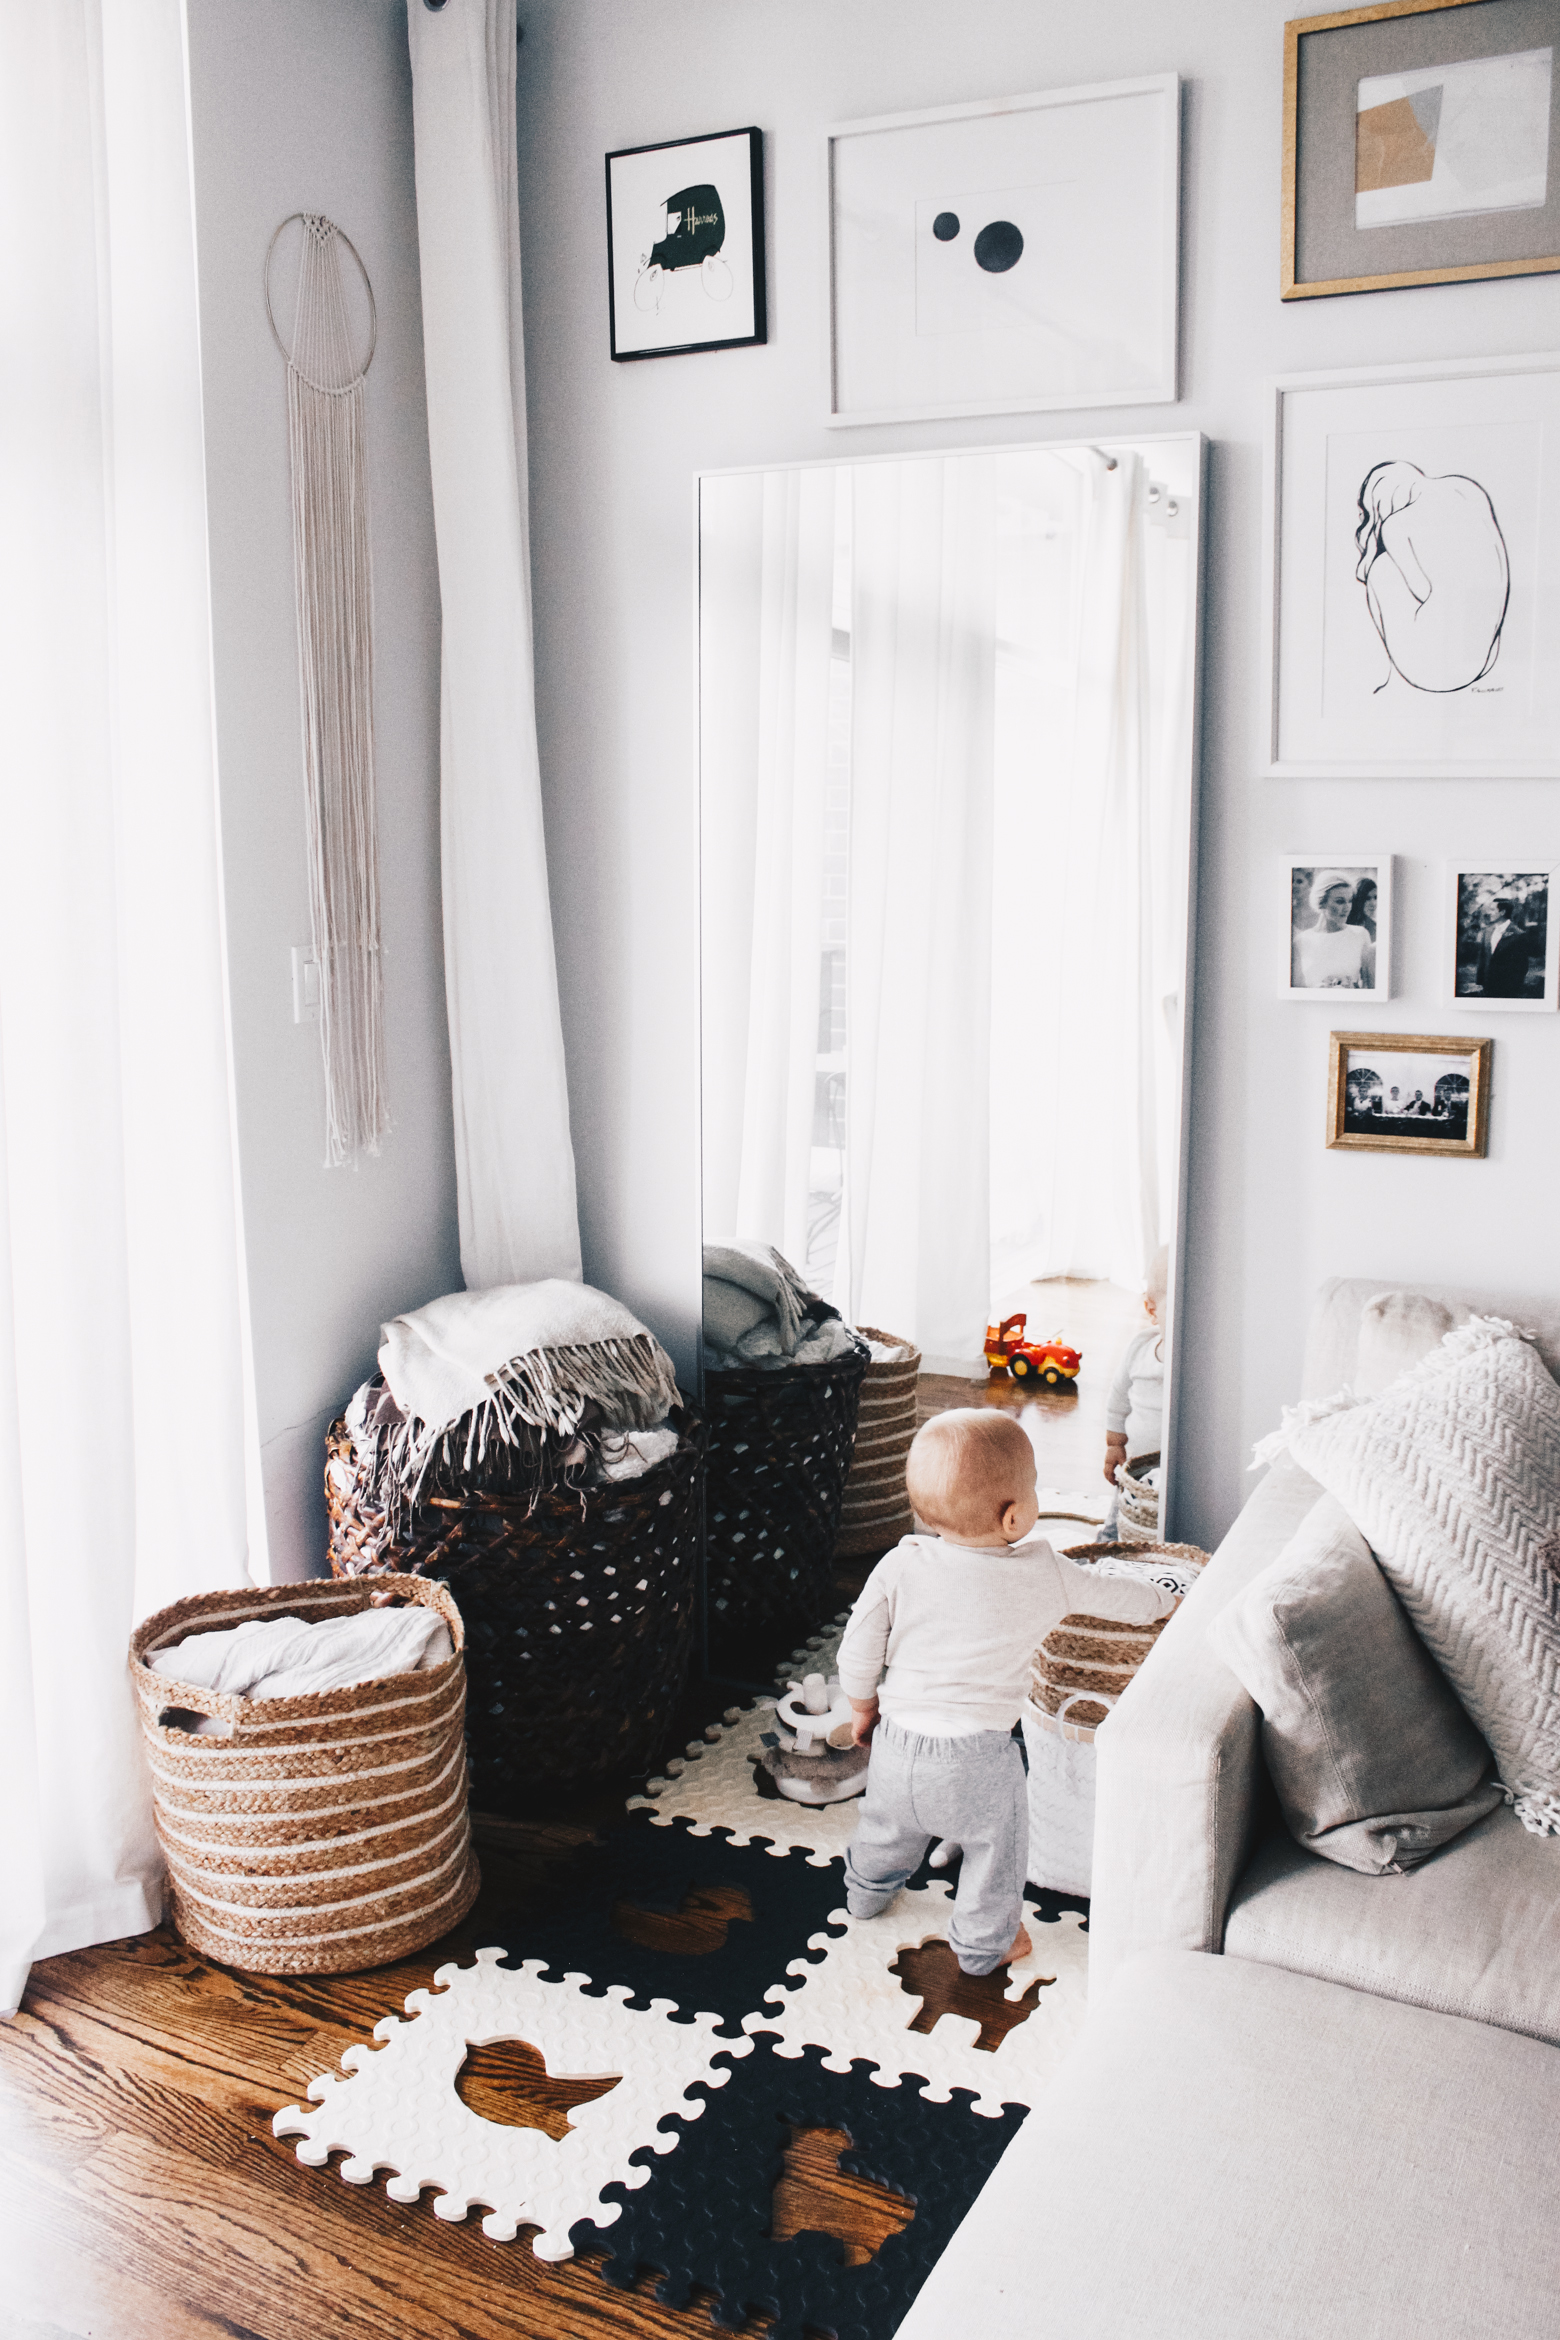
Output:
[[[828,1938],[826,1938],[828,1940]],[[323,2073],[309,2083],[311,2108],[290,2104],[271,2122],[276,2136],[297,2136],[299,2162],[323,2164],[332,2153],[348,2186],[370,2186],[377,2169],[391,2169],[393,2202],[416,2202],[423,2186],[442,2188],[433,2209],[458,2223],[472,2204],[489,2216],[482,2232],[512,2242],[522,2223],[538,2225],[531,2249],[538,2258],[571,2258],[568,2228],[575,2218],[610,2225],[620,2209],[601,2204],[601,2188],[620,2179],[646,2186],[650,2172],[631,2167],[641,2146],[671,2153],[676,2129],[657,2125],[669,2113],[697,2118],[695,2080],[723,2087],[727,2066],[713,2057],[751,2055],[751,2040],[718,2038],[716,2015],[669,2022],[671,1998],[648,2010],[624,2008],[627,1984],[601,1998],[585,1998],[587,1975],[540,1982],[540,1959],[501,1963],[501,1949],[479,1949],[475,1966],[442,1966],[440,1989],[412,1991],[407,2015],[374,2024],[381,2047],[348,2047],[341,2064],[351,2080]],[[468,2047],[489,2040],[526,2040],[554,2078],[615,2078],[615,2087],[568,2113],[568,2134],[519,2129],[484,2120],[456,2097],[456,2076]]]

